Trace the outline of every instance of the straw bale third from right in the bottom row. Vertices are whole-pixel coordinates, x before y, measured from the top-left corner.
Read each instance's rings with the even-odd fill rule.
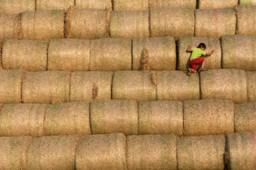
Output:
[[[175,135],[127,136],[127,169],[176,169]]]

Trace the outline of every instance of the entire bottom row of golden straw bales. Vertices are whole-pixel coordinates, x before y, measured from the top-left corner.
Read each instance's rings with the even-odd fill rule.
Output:
[[[255,135],[0,137],[0,168],[254,170]]]

